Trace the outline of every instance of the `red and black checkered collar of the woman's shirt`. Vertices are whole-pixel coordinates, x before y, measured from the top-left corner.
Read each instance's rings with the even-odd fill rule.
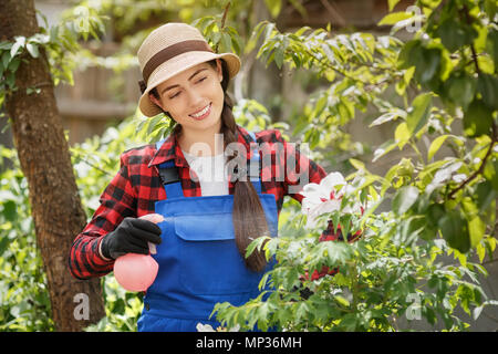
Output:
[[[250,152],[250,143],[252,142],[252,138],[249,133],[239,125],[237,125],[237,142],[243,144],[246,146],[246,149]],[[158,150],[156,150],[147,167],[160,165],[170,159],[175,159],[175,166],[188,166],[184,153],[181,152],[181,148],[178,144],[177,134],[175,132],[169,134],[166,140],[164,140],[163,145]]]

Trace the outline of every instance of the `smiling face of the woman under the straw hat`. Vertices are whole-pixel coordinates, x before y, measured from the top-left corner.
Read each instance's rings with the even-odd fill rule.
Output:
[[[159,100],[151,100],[169,113],[185,134],[218,133],[221,126],[224,90],[221,63],[200,63],[159,84]],[[212,131],[212,132],[211,132]]]

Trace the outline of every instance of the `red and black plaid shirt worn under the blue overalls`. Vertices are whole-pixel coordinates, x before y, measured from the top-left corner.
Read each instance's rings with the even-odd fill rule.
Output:
[[[238,126],[238,143],[246,146],[250,152],[250,135],[246,129]],[[276,154],[276,149],[262,148],[261,160],[268,159],[271,155],[271,164],[262,164],[260,170],[261,188],[264,194],[273,194],[277,200],[278,212],[282,208],[283,197],[290,196],[301,202],[303,197],[298,192],[289,192],[291,187],[299,186],[298,176],[302,173],[300,168],[294,171],[286,171],[286,157],[294,154],[295,162],[301,160],[300,166],[308,168],[309,183],[319,184],[326,176],[324,169],[314,162],[305,158],[294,149],[292,144],[288,144],[279,131],[262,131],[256,133],[257,143],[260,146],[272,147],[279,143],[284,146],[284,154]],[[268,143],[268,144],[264,144]],[[261,145],[262,144],[262,145]],[[250,153],[248,154],[250,158]],[[279,157],[277,157],[279,156]],[[286,156],[286,157],[284,157]],[[154,144],[136,147],[124,152],[121,155],[121,168],[108,186],[104,189],[100,198],[100,207],[95,210],[91,221],[83,231],[76,236],[70,251],[69,268],[73,277],[77,279],[89,279],[102,277],[113,270],[114,260],[106,260],[101,257],[100,243],[105,235],[113,231],[125,217],[138,218],[147,214],[155,212],[155,202],[166,199],[166,191],[160,183],[158,165],[169,159],[175,159],[178,167],[178,175],[181,180],[181,188],[185,197],[200,197],[200,184],[190,178],[190,168],[184,157],[176,136],[172,134],[157,150]],[[248,165],[249,166],[249,165]],[[283,166],[283,168],[282,168]],[[298,164],[299,166],[299,164]],[[284,175],[281,175],[284,174]],[[195,176],[195,173],[193,173]],[[271,176],[271,178],[268,178]],[[228,173],[229,194],[235,190],[235,183]],[[299,188],[299,187],[298,187]],[[323,231],[320,241],[342,239],[340,231],[333,233],[333,227],[329,223]],[[321,272],[315,271],[312,279],[321,278],[325,274],[333,274],[336,269],[323,268]],[[305,274],[308,278],[308,273]]]

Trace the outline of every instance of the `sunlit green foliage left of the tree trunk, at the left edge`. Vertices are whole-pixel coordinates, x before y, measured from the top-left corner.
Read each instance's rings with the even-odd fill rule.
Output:
[[[28,181],[15,152],[0,145],[0,331],[53,331]],[[12,169],[4,168],[7,162]]]

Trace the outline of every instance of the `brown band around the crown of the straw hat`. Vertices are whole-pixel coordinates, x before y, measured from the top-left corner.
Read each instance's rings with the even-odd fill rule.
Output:
[[[142,92],[145,91],[144,88],[146,86],[145,83],[148,81],[148,77],[154,72],[154,70],[156,70],[157,66],[163,64],[165,61],[168,61],[172,58],[175,58],[179,54],[194,51],[205,51],[212,53],[212,49],[209,46],[209,44],[206,41],[201,40],[183,41],[166,46],[165,49],[158,51],[147,61],[147,63],[144,66],[144,70],[142,71],[142,76],[144,77],[144,81],[138,82],[141,85],[141,91]]]

